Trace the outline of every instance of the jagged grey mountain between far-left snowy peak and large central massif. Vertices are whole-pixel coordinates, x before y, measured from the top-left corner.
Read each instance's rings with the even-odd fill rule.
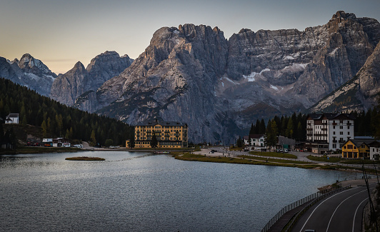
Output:
[[[96,91],[105,81],[117,76],[131,65],[129,56],[119,56],[115,51],[106,51],[84,69],[81,62],[66,74],[59,75],[51,86],[51,98],[72,106],[86,92]]]

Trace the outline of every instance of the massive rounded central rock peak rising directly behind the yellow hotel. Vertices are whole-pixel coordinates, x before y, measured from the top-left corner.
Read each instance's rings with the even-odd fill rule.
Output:
[[[227,51],[218,28],[185,24],[159,29],[134,64],[89,94],[96,98],[91,106],[106,106],[102,114],[132,124],[149,118],[186,121],[197,140],[214,139],[209,128],[225,130],[223,117],[216,118],[222,111],[215,85],[224,74]]]

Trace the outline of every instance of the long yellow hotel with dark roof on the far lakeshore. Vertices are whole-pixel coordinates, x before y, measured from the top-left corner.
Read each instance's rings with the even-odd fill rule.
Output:
[[[150,121],[134,127],[134,147],[151,148],[151,138],[156,135],[157,148],[184,148],[188,144],[187,124],[176,121]]]

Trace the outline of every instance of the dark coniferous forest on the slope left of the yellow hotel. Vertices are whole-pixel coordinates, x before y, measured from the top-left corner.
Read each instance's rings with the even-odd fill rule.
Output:
[[[133,128],[124,122],[65,106],[25,86],[0,79],[0,117],[5,119],[10,113],[19,114],[22,125],[41,127],[44,138],[62,137],[101,146],[106,140],[125,144],[133,134]],[[4,138],[4,133],[0,137]]]

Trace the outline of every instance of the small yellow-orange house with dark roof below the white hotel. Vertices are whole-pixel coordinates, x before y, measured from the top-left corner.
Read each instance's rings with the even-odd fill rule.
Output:
[[[341,148],[342,158],[369,158],[369,143],[374,142],[374,140],[368,139],[349,139],[343,144]]]

